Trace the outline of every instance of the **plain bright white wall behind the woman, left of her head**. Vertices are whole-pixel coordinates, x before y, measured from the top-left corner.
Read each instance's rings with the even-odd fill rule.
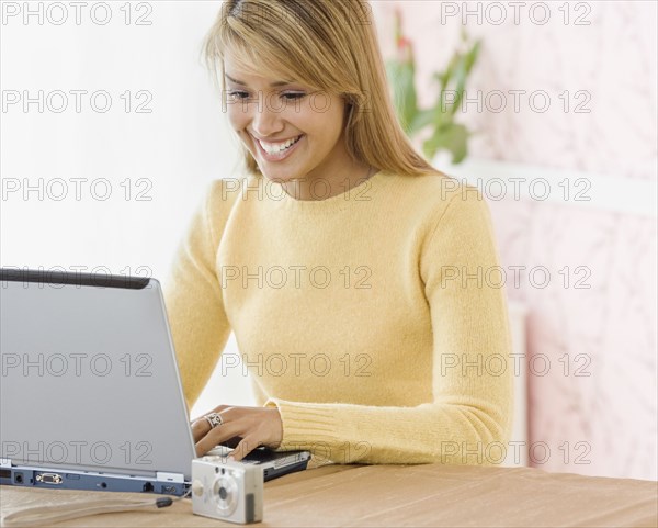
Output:
[[[81,9],[80,24],[75,5],[55,3],[68,15],[59,25],[65,11],[53,2],[27,2],[37,13],[27,20],[24,2],[1,4],[0,263],[105,267],[164,279],[206,183],[237,167],[237,139],[200,59],[202,38],[222,4],[132,2],[126,24],[125,2],[109,2],[111,19],[102,25],[107,12],[101,2]],[[138,25],[139,16],[150,25]],[[25,109],[23,91],[38,98],[39,90],[43,108]],[[58,90],[68,99],[60,113]],[[80,96],[80,112],[71,90],[89,92]],[[121,98],[126,90],[133,103],[127,113]],[[99,110],[90,103],[90,94],[101,91],[112,98],[104,113],[102,96],[95,99]],[[11,104],[15,92],[21,101]],[[143,102],[150,113],[136,112]],[[80,182],[79,200],[77,178],[88,180]],[[41,186],[43,195],[25,195],[25,183]],[[61,183],[68,195],[59,200]],[[112,193],[101,200],[106,183]],[[150,201],[138,200],[140,191]],[[238,382],[242,389],[223,385],[209,401],[248,401],[246,380]]]

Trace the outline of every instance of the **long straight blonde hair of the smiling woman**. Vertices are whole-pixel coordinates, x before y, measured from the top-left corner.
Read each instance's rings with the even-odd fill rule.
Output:
[[[405,176],[441,175],[398,123],[367,1],[225,0],[204,46],[223,93],[227,50],[247,74],[342,97],[345,147],[354,160]],[[247,169],[258,173],[251,153],[242,150]]]

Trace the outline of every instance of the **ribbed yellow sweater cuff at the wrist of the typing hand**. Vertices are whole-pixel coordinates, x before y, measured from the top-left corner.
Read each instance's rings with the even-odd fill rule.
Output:
[[[336,413],[326,405],[269,398],[265,407],[277,407],[283,424],[283,438],[276,451],[296,449],[321,450],[341,441]],[[344,427],[344,424],[342,424]],[[344,438],[343,438],[344,440]]]

